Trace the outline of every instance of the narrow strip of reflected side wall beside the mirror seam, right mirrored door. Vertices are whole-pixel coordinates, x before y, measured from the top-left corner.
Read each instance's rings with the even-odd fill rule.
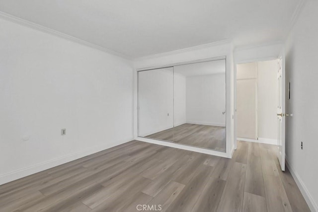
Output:
[[[186,123],[186,77],[174,72],[174,127]]]

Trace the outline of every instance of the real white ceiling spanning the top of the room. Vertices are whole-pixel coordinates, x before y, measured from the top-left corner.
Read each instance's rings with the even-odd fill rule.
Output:
[[[300,0],[0,0],[0,11],[138,58],[285,39]]]

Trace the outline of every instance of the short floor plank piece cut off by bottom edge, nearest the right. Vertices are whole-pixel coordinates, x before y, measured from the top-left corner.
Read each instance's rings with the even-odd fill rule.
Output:
[[[244,192],[243,212],[267,212],[264,197]]]

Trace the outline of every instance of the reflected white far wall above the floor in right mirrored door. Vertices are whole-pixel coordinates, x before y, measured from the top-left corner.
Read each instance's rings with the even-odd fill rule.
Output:
[[[186,77],[186,122],[225,127],[225,73]]]

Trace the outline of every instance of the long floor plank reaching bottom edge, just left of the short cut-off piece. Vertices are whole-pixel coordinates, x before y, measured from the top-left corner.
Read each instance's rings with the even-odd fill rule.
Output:
[[[244,196],[246,164],[235,162],[218,207],[218,212],[241,212]]]

